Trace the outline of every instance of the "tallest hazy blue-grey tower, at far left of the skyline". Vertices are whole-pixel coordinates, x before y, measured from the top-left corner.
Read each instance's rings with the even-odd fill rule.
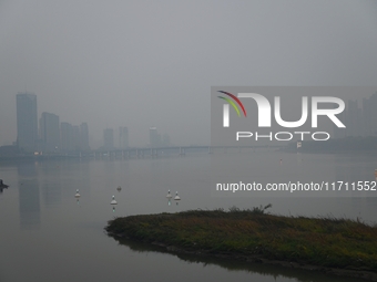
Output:
[[[34,152],[38,140],[37,95],[19,93],[17,100],[17,144],[23,152]]]

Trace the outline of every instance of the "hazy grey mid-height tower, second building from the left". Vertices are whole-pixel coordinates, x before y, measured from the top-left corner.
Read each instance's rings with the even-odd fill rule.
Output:
[[[60,150],[60,126],[59,116],[50,113],[42,113],[39,119],[40,139],[42,142],[42,150],[58,152]]]

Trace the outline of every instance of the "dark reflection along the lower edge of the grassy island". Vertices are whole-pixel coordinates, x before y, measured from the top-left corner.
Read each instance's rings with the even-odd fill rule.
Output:
[[[256,262],[247,262],[242,260],[233,260],[233,259],[221,259],[214,258],[211,255],[198,255],[191,253],[174,253],[167,251],[165,247],[153,246],[141,243],[136,241],[132,241],[129,239],[115,239],[120,244],[126,246],[130,250],[135,252],[157,252],[157,253],[169,253],[171,255],[177,257],[180,260],[188,262],[188,263],[201,263],[203,268],[207,265],[218,265],[228,271],[247,271],[251,274],[261,274],[264,276],[274,276],[276,281],[278,278],[292,279],[294,281],[300,282],[345,282],[345,281],[355,281],[354,279],[339,278],[335,275],[328,275],[320,272],[313,272],[307,270],[299,269],[289,269],[281,265],[272,265]],[[253,278],[253,276],[251,276]]]

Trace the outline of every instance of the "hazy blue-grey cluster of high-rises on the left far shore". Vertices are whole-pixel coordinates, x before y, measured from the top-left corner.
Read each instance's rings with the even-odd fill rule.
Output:
[[[42,112],[38,118],[38,95],[34,93],[18,93],[18,138],[12,144],[18,145],[24,153],[70,153],[88,152],[91,149],[90,132],[88,123],[72,125],[60,122],[59,115]],[[37,122],[39,121],[39,123]],[[39,125],[39,126],[38,126]],[[151,129],[154,128],[155,134]],[[130,147],[129,128],[119,127],[119,142],[115,146],[114,130],[111,127],[103,129],[103,144],[94,149],[113,150],[115,148],[126,149]],[[144,147],[170,146],[169,134],[161,136],[156,127],[150,127],[150,142]],[[1,147],[1,146],[0,146]]]

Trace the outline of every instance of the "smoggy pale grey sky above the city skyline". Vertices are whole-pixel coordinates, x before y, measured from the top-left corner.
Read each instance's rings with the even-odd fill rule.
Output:
[[[92,148],[119,126],[210,144],[211,86],[374,86],[376,30],[363,0],[0,0],[0,146],[26,91]]]

